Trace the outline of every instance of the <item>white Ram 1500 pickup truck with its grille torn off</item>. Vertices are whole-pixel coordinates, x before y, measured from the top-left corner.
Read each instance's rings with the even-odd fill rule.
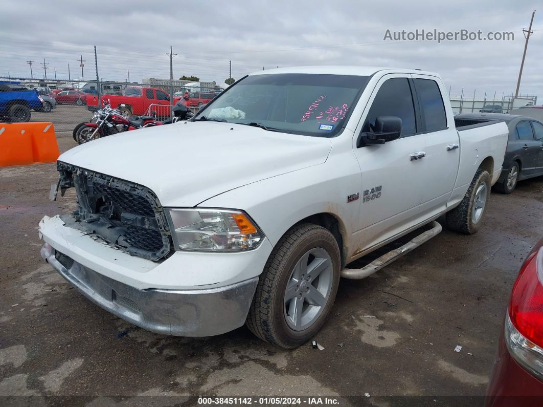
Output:
[[[209,336],[247,323],[293,348],[323,325],[340,277],[366,277],[430,239],[445,212],[449,228],[474,233],[507,135],[497,121],[455,126],[434,73],[256,72],[191,120],[62,154],[52,196],[75,187],[77,209],[41,220],[41,255],[150,331]]]

